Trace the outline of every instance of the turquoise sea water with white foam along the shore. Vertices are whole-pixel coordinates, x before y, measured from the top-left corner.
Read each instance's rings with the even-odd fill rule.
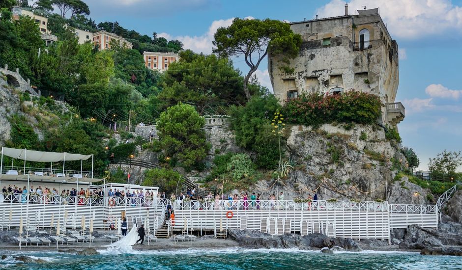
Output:
[[[415,252],[336,252],[298,249],[186,249],[116,253],[100,250],[94,256],[59,252],[9,252],[0,268],[24,270],[121,270],[121,269],[462,269],[462,257],[423,256]],[[13,256],[41,258],[45,264],[16,265]]]

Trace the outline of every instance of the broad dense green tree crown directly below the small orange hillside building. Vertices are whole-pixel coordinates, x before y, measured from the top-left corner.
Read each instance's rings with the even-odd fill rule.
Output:
[[[245,99],[242,78],[228,58],[194,54],[190,50],[180,56],[181,59],[171,64],[169,72],[165,73],[163,90],[159,94],[168,105],[182,101],[197,106],[203,113],[206,106]]]

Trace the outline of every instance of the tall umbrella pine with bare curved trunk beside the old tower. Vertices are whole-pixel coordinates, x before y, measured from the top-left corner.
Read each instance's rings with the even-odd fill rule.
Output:
[[[215,53],[225,57],[244,55],[250,67],[243,84],[248,100],[251,93],[247,84],[266,54],[284,54],[285,57],[294,58],[302,44],[301,36],[294,34],[289,24],[270,19],[235,18],[231,26],[218,28],[214,37]],[[285,61],[288,62],[288,59]]]

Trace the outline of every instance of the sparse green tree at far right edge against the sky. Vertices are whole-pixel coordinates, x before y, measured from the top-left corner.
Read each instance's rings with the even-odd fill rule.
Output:
[[[454,175],[457,167],[461,165],[461,151],[451,152],[444,150],[442,153],[436,155],[435,158],[429,159],[428,168],[431,173]]]

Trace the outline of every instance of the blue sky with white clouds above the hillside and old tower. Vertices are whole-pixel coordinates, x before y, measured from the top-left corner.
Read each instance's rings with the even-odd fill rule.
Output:
[[[185,49],[210,54],[213,34],[234,17],[290,22],[379,8],[399,46],[400,84],[396,102],[406,117],[398,125],[403,146],[412,147],[427,170],[443,150],[462,151],[462,0],[84,0],[89,17],[117,21],[128,29],[178,39]],[[234,59],[243,73],[248,67]],[[256,72],[272,89],[267,62]],[[462,171],[462,167],[459,168]]]

